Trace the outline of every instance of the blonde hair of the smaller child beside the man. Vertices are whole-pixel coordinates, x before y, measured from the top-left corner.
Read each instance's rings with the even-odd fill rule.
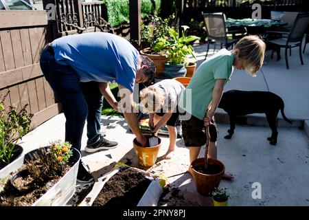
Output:
[[[165,93],[155,86],[147,87],[140,92],[140,106],[144,113],[155,113],[163,107]]]

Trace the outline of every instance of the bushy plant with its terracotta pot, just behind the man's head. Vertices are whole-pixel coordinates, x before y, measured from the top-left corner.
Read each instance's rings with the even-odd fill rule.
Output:
[[[157,15],[150,18],[150,25],[141,23],[141,54],[148,56],[156,66],[155,76],[162,75],[165,62],[168,60],[164,50],[154,50],[159,38],[168,35],[168,28],[175,18],[172,14],[167,19],[161,19]]]

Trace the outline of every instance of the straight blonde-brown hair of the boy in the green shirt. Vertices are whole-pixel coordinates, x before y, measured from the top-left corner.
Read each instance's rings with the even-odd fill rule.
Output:
[[[244,68],[255,76],[256,72],[262,67],[266,44],[256,35],[244,36],[233,49],[240,50],[238,57],[244,61]]]

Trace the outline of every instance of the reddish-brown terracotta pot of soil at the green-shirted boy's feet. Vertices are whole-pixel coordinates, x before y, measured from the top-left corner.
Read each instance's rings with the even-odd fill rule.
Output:
[[[204,173],[200,173],[194,169],[196,166],[204,166],[205,158],[201,157],[195,159],[191,163],[191,168],[193,170],[193,178],[196,185],[196,190],[201,195],[211,195],[214,191],[214,188],[218,187],[222,178],[222,175],[225,173],[225,165],[222,164],[218,159],[208,158],[209,165],[216,164],[220,166],[220,173],[214,175],[207,175]]]

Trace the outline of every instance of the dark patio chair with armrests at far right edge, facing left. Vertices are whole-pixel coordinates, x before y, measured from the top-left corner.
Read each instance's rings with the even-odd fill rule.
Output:
[[[273,50],[280,50],[281,47],[285,48],[286,69],[289,69],[288,49],[292,47],[299,47],[301,65],[304,65],[303,58],[301,56],[301,43],[308,25],[309,12],[299,12],[292,28],[290,29],[290,32],[267,32],[267,34],[281,34],[279,39],[269,40],[268,44],[273,48]]]

